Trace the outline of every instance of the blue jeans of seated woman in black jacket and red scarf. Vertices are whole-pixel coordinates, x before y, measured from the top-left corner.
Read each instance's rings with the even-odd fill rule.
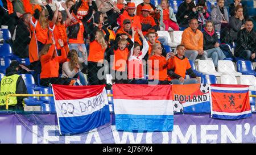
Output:
[[[220,49],[220,47],[207,49],[208,57],[212,58],[215,67],[218,66],[218,60],[223,60],[226,56]]]

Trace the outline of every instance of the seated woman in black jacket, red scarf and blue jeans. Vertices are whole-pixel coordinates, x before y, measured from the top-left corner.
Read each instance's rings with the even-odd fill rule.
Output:
[[[213,64],[217,68],[218,60],[224,60],[226,56],[220,49],[220,43],[218,43],[218,36],[217,33],[214,32],[212,21],[207,21],[203,34],[204,51],[207,52],[208,57],[212,58]]]

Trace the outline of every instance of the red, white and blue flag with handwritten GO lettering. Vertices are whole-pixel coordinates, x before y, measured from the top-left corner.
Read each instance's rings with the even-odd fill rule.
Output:
[[[90,131],[110,122],[104,85],[52,85],[60,135]]]

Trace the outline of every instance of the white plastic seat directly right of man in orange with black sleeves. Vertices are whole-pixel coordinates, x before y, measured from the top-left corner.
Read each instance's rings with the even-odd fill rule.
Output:
[[[214,76],[221,76],[221,73],[218,73],[215,70],[215,66],[212,60],[199,60],[198,61],[198,72],[203,74],[212,74]]]

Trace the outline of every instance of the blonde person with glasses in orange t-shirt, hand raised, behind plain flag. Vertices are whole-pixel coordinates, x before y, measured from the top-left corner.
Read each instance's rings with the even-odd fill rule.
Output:
[[[154,44],[151,57],[148,59],[148,83],[156,85],[170,85],[170,78],[167,75],[168,59],[174,56],[170,52],[166,57],[162,56],[162,47],[160,44]]]

